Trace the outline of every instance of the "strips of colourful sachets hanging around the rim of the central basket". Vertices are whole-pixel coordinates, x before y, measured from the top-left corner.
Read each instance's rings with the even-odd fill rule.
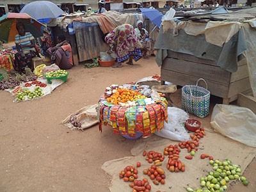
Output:
[[[168,120],[167,102],[164,97],[154,104],[143,106],[122,107],[119,105],[106,106],[102,99],[99,101],[99,129],[102,124],[110,125],[114,134],[136,136],[136,132],[143,133],[143,137],[160,131],[164,121]]]

